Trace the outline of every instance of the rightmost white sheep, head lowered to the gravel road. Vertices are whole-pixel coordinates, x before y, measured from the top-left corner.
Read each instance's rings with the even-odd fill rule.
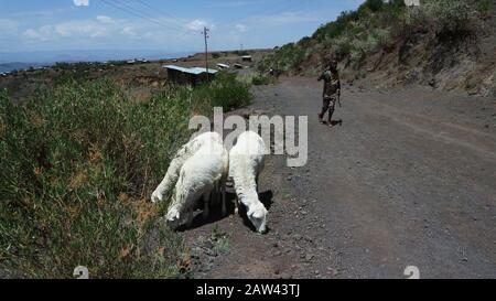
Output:
[[[258,175],[263,169],[266,144],[262,138],[252,131],[241,133],[236,146],[229,152],[229,176],[236,190],[236,213],[238,202],[247,207],[247,216],[257,232],[267,229],[267,209],[258,198]]]

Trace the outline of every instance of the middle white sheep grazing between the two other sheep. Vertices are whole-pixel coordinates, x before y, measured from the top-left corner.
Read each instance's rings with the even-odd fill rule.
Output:
[[[166,219],[172,225],[186,222],[191,226],[193,211],[203,196],[205,201],[204,217],[208,215],[211,193],[218,189],[223,198],[223,214],[226,211],[225,182],[227,179],[229,157],[223,143],[207,140],[188,158],[181,168]]]

